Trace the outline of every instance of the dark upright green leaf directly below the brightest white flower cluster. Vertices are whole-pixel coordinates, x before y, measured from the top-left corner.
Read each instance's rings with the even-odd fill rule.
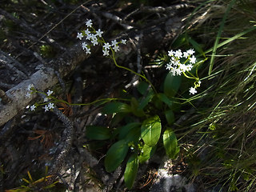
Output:
[[[167,97],[174,97],[179,87],[181,86],[182,76],[174,76],[171,73],[166,75],[165,82],[163,84],[163,92]]]

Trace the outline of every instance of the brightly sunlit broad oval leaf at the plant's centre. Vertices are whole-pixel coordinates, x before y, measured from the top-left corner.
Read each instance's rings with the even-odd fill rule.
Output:
[[[161,120],[158,115],[147,118],[142,122],[141,136],[146,145],[155,146],[158,143],[161,128]]]

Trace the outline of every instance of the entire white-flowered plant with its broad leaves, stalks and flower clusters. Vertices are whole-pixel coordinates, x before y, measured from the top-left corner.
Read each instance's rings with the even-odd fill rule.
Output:
[[[198,78],[197,70],[195,75],[190,72],[196,63],[194,50],[190,49],[185,52],[170,50],[168,55],[165,55],[169,61],[166,63],[166,70],[169,70],[169,73],[166,75],[163,93],[158,93],[153,83],[145,75],[138,74],[126,66],[118,65],[116,54],[119,50],[119,44],[126,44],[126,39],[106,42],[102,38],[102,34],[102,30],[94,29],[93,23],[89,19],[86,21],[86,30],[78,32],[77,38],[82,41],[82,49],[85,50],[85,54],[91,54],[91,46],[102,46],[103,56],[112,59],[115,66],[128,70],[144,80],[136,86],[139,96],[135,98],[127,94],[126,98],[102,98],[90,103],[74,104],[55,98],[51,90],[42,93],[30,85],[28,96],[32,93],[45,96],[42,104],[36,103],[30,106],[30,110],[35,110],[40,105],[44,105],[45,111],[51,110],[54,108],[54,103],[58,102],[63,102],[69,106],[108,102],[103,107],[102,113],[111,115],[112,126],[86,126],[86,137],[91,140],[114,141],[107,150],[104,160],[108,172],[116,170],[128,156],[124,180],[126,186],[132,188],[139,164],[152,157],[160,138],[162,138],[166,155],[169,158],[178,157],[178,140],[171,127],[175,122],[174,113],[179,111],[180,103],[174,96],[180,88],[182,74],[186,78],[195,80],[194,86],[190,87],[190,94],[197,93],[196,89],[200,86],[201,81]],[[125,118],[130,119],[129,122]]]

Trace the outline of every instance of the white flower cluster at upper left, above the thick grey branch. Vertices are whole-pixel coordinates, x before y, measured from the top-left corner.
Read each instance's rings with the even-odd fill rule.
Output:
[[[82,40],[82,38],[86,37],[86,40],[89,40],[93,46],[97,46],[100,43],[102,46],[103,56],[110,56],[110,50],[114,50],[117,52],[119,50],[119,43],[126,44],[126,39],[122,39],[121,42],[117,42],[116,40],[112,41],[111,44],[109,42],[105,42],[102,38],[102,30],[94,30],[93,23],[89,19],[86,21],[87,29],[82,31],[82,33],[78,33],[77,38]],[[91,54],[90,45],[86,42],[82,42],[82,49],[86,51],[86,54]]]

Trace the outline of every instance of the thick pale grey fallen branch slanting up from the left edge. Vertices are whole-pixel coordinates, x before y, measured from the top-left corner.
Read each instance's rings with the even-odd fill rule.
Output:
[[[84,53],[80,43],[75,44],[70,50],[62,54],[60,58],[50,62],[48,66],[32,74],[29,79],[7,90],[5,94],[10,102],[1,107],[0,126],[8,122],[11,118],[14,118],[20,111],[24,110],[36,97],[35,95],[31,95],[31,97],[26,96],[28,92],[27,87],[30,84],[33,84],[34,88],[37,90],[46,90],[58,82],[58,77],[54,71],[58,71],[62,77],[65,77],[86,58],[88,58],[88,55]],[[8,58],[6,58],[6,60],[7,59]]]

